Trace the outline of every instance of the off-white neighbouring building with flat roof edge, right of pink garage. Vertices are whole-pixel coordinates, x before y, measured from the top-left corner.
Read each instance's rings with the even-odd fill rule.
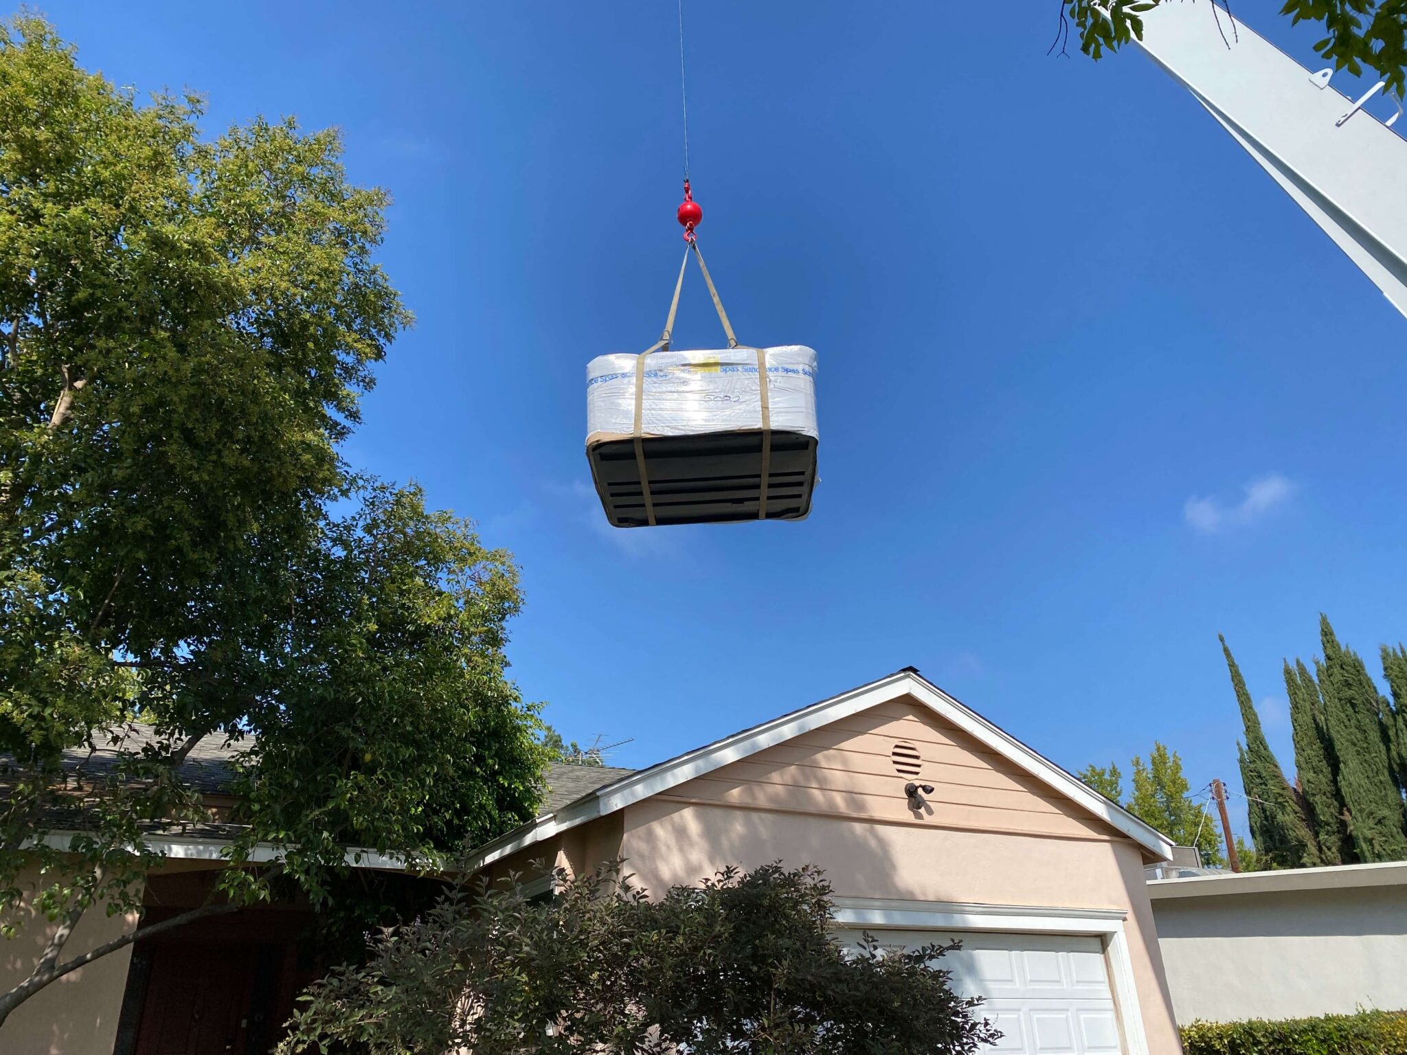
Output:
[[[1407,1009],[1407,886],[1158,897],[1179,1023]]]

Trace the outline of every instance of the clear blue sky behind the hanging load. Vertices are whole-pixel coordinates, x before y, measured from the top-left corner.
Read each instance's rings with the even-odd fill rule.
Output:
[[[1278,7],[1234,10],[1317,69]],[[1317,613],[1407,637],[1407,322],[1145,58],[1047,58],[1054,1],[688,0],[702,245],[744,342],[817,350],[823,482],[654,532],[601,516],[584,371],[682,250],[673,3],[45,10],[393,193],[418,325],[349,459],[516,554],[515,675],[613,764],[913,664],[1069,768],[1159,738],[1240,788],[1218,632],[1283,762]],[[719,338],[691,274],[675,346]]]

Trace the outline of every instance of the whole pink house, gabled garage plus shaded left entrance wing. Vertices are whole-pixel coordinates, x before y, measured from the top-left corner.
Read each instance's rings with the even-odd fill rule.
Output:
[[[218,795],[218,758],[193,758]],[[864,930],[886,947],[962,940],[948,965],[986,997],[998,1051],[1179,1051],[1142,871],[1169,858],[1168,840],[913,668],[647,769],[554,767],[549,781],[542,816],[481,847],[476,868],[546,890],[553,867],[580,874],[623,857],[637,883],[664,890],[730,864],[815,862],[834,886],[841,941]],[[200,903],[228,834],[163,838],[142,926]],[[138,941],[21,1007],[0,1049],[257,1055],[311,975],[305,912]],[[90,916],[75,951],[136,924]],[[0,964],[0,983],[14,969]]]

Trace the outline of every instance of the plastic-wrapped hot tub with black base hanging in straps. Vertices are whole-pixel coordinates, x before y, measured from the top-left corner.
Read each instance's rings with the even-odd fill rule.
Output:
[[[799,520],[817,439],[816,353],[802,345],[598,356],[587,367],[587,457],[616,528]]]

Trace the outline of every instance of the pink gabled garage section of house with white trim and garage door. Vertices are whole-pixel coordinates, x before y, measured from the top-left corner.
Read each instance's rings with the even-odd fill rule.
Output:
[[[815,862],[841,940],[962,940],[955,980],[986,999],[998,1051],[1180,1051],[1144,882],[1169,841],[913,668],[574,781],[477,867],[546,889],[545,869],[619,857],[664,890],[725,865]]]

